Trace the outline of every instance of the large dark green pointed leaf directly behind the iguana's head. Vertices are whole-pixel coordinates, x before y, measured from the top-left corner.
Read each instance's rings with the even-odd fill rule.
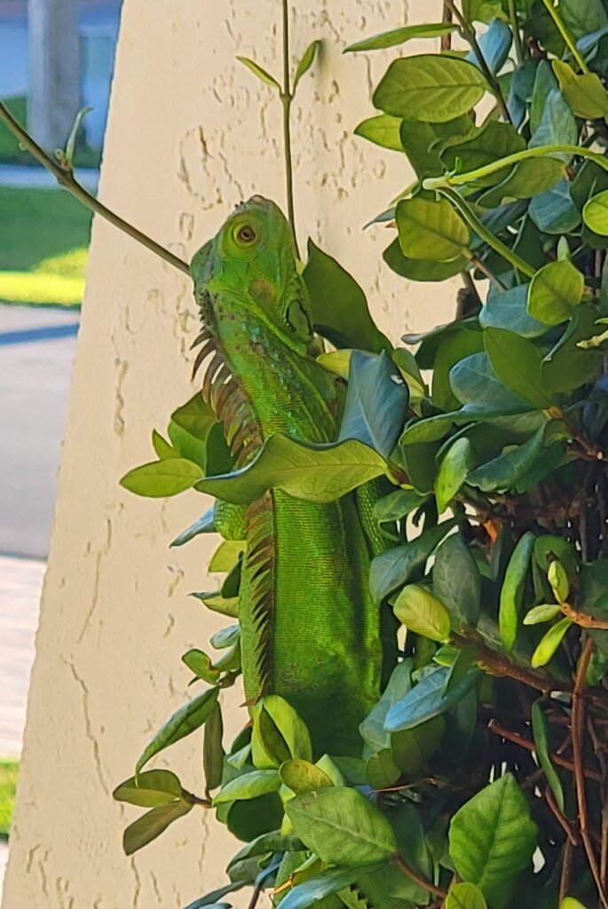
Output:
[[[319,335],[335,347],[357,347],[372,354],[393,349],[374,324],[361,287],[312,240],[308,241],[308,262],[302,276]]]

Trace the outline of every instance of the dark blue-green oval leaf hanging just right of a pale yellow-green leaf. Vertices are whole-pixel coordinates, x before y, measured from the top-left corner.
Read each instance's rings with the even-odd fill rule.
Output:
[[[481,575],[460,534],[450,534],[435,553],[433,589],[454,626],[475,628],[481,608]]]

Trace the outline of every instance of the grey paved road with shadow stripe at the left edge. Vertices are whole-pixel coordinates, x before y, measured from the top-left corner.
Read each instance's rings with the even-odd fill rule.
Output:
[[[48,554],[77,322],[0,305],[0,553]]]

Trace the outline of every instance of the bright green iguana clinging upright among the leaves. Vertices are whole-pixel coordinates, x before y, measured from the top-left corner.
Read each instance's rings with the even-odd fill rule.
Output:
[[[195,255],[192,274],[204,324],[203,394],[237,466],[275,433],[334,441],[344,392],[310,353],[310,303],[279,209],[260,196],[241,205]],[[359,754],[354,734],[379,696],[380,618],[368,590],[374,545],[365,524],[355,494],[314,504],[271,490],[245,514],[245,695],[249,703],[286,698],[319,754]]]

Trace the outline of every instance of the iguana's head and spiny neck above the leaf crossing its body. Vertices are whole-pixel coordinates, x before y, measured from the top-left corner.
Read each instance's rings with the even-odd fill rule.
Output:
[[[204,325],[194,372],[208,361],[204,399],[243,464],[277,429],[270,424],[282,408],[266,400],[269,387],[289,385],[299,399],[304,376],[320,368],[308,356],[310,300],[281,210],[260,195],[239,205],[194,255],[191,273]]]

